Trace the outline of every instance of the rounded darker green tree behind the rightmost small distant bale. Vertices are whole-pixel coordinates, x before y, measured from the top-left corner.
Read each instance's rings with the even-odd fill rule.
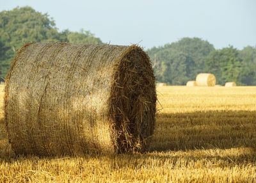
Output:
[[[224,84],[227,81],[239,83],[241,62],[239,51],[229,46],[211,52],[205,60],[205,70],[214,74],[219,84]]]

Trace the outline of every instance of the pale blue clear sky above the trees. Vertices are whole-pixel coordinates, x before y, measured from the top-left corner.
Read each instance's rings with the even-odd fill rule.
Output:
[[[62,31],[91,31],[103,42],[149,49],[199,37],[221,49],[256,46],[255,0],[0,0],[0,11],[31,6]]]

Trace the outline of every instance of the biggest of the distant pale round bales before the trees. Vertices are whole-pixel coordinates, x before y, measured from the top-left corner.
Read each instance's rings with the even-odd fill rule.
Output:
[[[197,86],[214,86],[216,84],[216,78],[213,74],[201,73],[196,76]]]

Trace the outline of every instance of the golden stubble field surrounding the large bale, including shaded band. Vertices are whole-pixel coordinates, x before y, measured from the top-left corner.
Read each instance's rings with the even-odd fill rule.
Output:
[[[0,182],[256,182],[256,87],[161,86],[157,96],[145,154],[15,155],[1,113]]]

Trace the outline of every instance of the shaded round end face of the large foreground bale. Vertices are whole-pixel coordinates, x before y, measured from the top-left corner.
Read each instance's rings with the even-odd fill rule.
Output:
[[[144,151],[154,132],[156,85],[152,66],[137,46],[127,49],[111,87],[109,114],[118,152]]]

